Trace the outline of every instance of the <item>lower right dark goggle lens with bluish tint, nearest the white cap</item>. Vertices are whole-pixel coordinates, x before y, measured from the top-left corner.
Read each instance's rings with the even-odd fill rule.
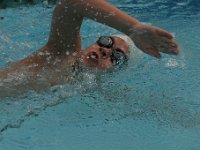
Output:
[[[121,66],[127,63],[128,61],[127,56],[120,49],[113,49],[112,55],[110,56],[110,58],[111,58],[111,62],[113,66]]]

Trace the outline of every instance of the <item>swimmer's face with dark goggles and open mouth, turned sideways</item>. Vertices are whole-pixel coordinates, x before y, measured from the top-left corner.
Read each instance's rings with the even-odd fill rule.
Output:
[[[81,51],[81,61],[87,67],[107,70],[126,63],[129,53],[128,44],[123,39],[100,37],[95,44]]]

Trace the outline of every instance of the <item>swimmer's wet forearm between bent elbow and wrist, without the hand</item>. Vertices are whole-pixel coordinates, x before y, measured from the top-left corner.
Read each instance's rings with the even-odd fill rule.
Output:
[[[61,4],[66,7],[73,7],[74,16],[81,15],[90,18],[127,35],[133,26],[140,23],[106,0],[62,0]]]

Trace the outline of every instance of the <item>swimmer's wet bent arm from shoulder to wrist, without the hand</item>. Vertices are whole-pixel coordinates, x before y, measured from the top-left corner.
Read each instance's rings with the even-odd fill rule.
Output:
[[[80,27],[84,17],[125,34],[129,33],[128,30],[133,25],[139,23],[104,0],[61,0],[53,13],[48,45],[60,51],[80,50]]]

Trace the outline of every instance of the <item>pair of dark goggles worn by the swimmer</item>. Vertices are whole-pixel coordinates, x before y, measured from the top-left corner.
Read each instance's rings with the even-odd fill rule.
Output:
[[[101,36],[98,39],[97,44],[100,47],[112,48],[112,54],[110,57],[111,57],[111,62],[113,64],[113,66],[121,66],[121,65],[127,63],[128,58],[125,55],[125,53],[120,49],[113,49],[114,40],[112,39],[112,37]]]

